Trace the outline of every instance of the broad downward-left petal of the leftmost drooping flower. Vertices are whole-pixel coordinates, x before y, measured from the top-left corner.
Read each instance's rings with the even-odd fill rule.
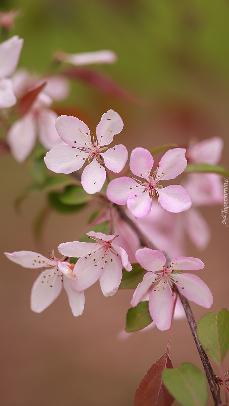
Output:
[[[31,310],[35,311],[35,313],[41,313],[41,311],[50,306],[61,293],[61,278],[56,278],[54,272],[51,277],[49,277],[49,275],[49,269],[41,272],[33,284],[30,304]]]

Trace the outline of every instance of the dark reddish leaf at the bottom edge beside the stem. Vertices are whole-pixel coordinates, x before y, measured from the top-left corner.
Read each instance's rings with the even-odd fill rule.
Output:
[[[173,368],[167,351],[144,376],[137,388],[134,406],[170,406],[174,402],[174,397],[162,383],[161,374],[165,368]]]

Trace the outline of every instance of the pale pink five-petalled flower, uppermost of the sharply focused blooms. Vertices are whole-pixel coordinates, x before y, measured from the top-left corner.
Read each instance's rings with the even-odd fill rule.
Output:
[[[48,169],[57,173],[72,173],[82,168],[88,162],[82,173],[82,186],[87,193],[100,192],[106,180],[104,165],[113,172],[124,168],[128,152],[124,145],[112,148],[105,145],[113,141],[113,136],[119,134],[123,122],[118,113],[108,110],[103,114],[96,128],[97,139],[90,136],[87,125],[72,116],[60,116],[56,120],[59,136],[68,145],[51,149],[45,156]]]

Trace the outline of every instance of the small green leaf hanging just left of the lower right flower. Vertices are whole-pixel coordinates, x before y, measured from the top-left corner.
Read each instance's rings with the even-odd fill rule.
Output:
[[[132,272],[132,271],[131,271]],[[139,302],[136,307],[131,307],[126,315],[126,328],[127,333],[132,331],[142,330],[142,328],[152,323],[152,317],[149,313],[149,302]]]

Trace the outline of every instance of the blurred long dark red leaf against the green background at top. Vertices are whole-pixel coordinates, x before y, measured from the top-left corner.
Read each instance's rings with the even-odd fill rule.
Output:
[[[87,68],[72,68],[63,71],[62,74],[67,76],[68,78],[80,80],[81,82],[86,83],[92,88],[96,89],[100,93],[118,97],[118,99],[122,99],[125,102],[137,105],[143,104],[140,98],[138,99],[135,95],[132,95],[127,90],[122,89],[120,86],[114,83],[113,80],[103,75],[102,73],[99,73],[98,71]]]

